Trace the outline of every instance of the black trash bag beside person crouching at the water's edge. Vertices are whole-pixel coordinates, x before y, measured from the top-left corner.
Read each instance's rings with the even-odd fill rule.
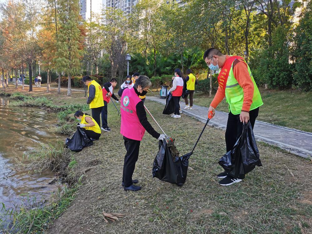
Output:
[[[66,138],[66,147],[71,151],[79,152],[83,148],[93,145],[93,141],[85,134],[85,132],[77,126],[77,130],[71,139]]]

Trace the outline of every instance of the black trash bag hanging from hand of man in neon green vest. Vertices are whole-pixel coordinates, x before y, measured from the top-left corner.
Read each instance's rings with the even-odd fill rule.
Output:
[[[220,158],[219,164],[234,178],[245,178],[256,166],[262,166],[250,122],[243,124],[240,138],[234,148]]]

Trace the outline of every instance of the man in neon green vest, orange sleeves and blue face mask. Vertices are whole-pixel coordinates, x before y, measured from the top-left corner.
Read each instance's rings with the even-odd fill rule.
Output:
[[[233,149],[236,140],[242,134],[243,123],[250,121],[252,128],[254,127],[259,107],[263,105],[263,102],[250,68],[242,57],[224,55],[221,51],[210,48],[205,51],[203,59],[211,70],[220,69],[219,87],[210,103],[208,114],[211,111],[213,117],[219,103],[224,97],[226,98],[230,112],[225,132],[228,152]],[[223,178],[219,182],[222,186],[241,182],[245,178],[245,176],[233,178],[226,171],[218,174],[217,177]]]

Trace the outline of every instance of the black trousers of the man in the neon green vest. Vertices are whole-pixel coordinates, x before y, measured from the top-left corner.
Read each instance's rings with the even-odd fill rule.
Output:
[[[259,107],[249,111],[249,121],[252,128],[255,125],[256,118],[259,114]],[[227,145],[227,152],[232,150],[236,140],[241,136],[243,131],[243,123],[239,119],[238,115],[233,115],[229,113],[229,118],[227,119],[227,130],[225,132],[225,143]]]

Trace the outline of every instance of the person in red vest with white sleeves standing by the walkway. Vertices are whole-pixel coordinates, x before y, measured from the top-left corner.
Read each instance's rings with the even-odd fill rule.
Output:
[[[171,92],[174,101],[174,114],[171,115],[173,118],[181,118],[180,115],[180,98],[183,93],[184,80],[183,74],[180,69],[174,70],[174,76],[172,77],[173,83],[172,88],[169,90],[168,94]]]

